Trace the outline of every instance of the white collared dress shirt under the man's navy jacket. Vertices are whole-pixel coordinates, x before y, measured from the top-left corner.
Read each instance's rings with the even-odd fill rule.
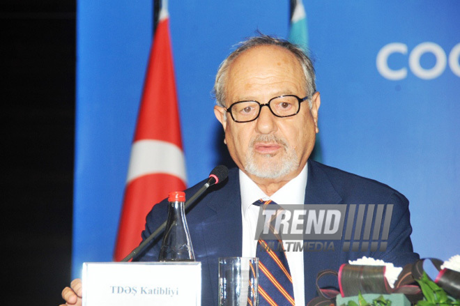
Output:
[[[255,257],[257,248],[257,240],[255,239],[256,225],[260,207],[252,204],[259,199],[263,199],[264,201],[271,199],[280,206],[292,204],[303,205],[305,188],[307,186],[307,165],[305,165],[296,178],[286,183],[286,185],[280,188],[271,197],[268,197],[243,171],[239,171],[239,176],[241,217],[243,221],[243,257]],[[303,243],[302,240],[298,241]],[[289,270],[291,270],[296,306],[305,306],[303,252],[288,250],[288,252],[286,252],[286,258],[289,264]]]

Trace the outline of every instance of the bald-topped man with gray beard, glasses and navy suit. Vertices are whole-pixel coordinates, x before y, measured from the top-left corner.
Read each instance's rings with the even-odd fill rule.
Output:
[[[260,207],[252,203],[258,199],[281,206],[357,205],[366,206],[367,211],[375,204],[392,205],[388,239],[377,241],[383,245],[385,240],[383,248],[360,245],[344,252],[345,243],[353,245],[353,241],[342,236],[328,250],[286,252],[297,305],[305,305],[316,295],[319,271],[338,270],[349,259],[374,257],[396,266],[418,259],[410,240],[408,201],[402,194],[309,160],[319,132],[321,100],[312,62],[300,49],[268,36],[247,40],[220,66],[215,95],[215,116],[222,123],[224,142],[238,169],[231,169],[227,181],[216,185],[187,213],[195,257],[202,262],[203,305],[217,303],[218,257],[256,256],[255,224]],[[187,196],[199,187],[186,190]],[[166,215],[166,201],[155,205],[147,216],[143,237]],[[156,261],[159,247],[159,242],[154,243],[137,260]],[[64,289],[63,297],[68,305],[77,300],[70,288]]]

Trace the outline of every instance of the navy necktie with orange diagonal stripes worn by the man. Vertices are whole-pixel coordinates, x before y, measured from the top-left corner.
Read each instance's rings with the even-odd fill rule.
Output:
[[[256,201],[264,209],[275,202]],[[270,248],[270,247],[273,247]],[[295,305],[291,272],[282,246],[282,240],[259,240],[256,257],[259,257],[259,306]]]

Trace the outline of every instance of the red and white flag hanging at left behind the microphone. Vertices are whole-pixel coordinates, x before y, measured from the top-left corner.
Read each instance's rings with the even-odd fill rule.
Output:
[[[162,8],[131,149],[115,261],[121,261],[139,245],[145,217],[152,206],[169,192],[184,190],[186,186],[169,37],[169,16],[166,8]]]

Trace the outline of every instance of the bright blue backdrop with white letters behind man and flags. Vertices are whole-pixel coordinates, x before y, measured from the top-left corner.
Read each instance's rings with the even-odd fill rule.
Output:
[[[323,162],[411,201],[422,257],[460,253],[460,2],[304,0]],[[111,261],[152,37],[151,0],[77,1],[73,266]],[[210,94],[231,46],[287,38],[289,1],[170,0],[187,179],[221,161]]]

